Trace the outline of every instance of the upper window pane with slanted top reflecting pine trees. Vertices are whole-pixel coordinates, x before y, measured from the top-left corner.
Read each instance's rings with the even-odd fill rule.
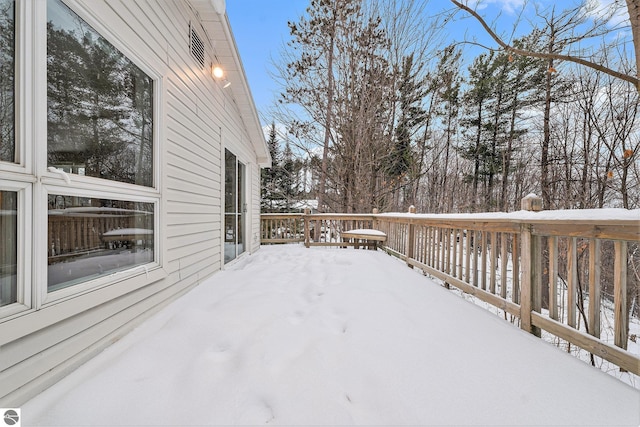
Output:
[[[47,166],[153,186],[153,80],[61,1],[47,4]]]

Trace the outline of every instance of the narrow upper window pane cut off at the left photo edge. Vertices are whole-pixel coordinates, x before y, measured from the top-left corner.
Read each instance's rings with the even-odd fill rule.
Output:
[[[0,161],[15,162],[15,2],[0,0]]]

